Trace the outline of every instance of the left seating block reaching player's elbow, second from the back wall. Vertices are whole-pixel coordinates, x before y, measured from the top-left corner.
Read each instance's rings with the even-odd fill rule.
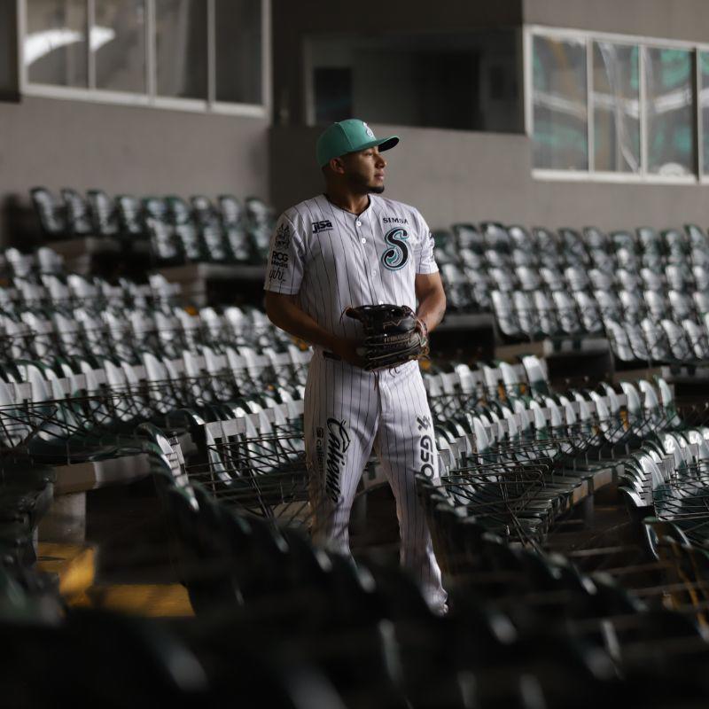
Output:
[[[52,352],[137,363],[144,351],[179,357],[185,348],[197,354],[199,346],[292,346],[260,310],[185,307],[180,286],[160,275],[147,284],[125,278],[110,284],[66,273],[49,248],[30,255],[8,249],[0,254],[0,276],[6,362]]]

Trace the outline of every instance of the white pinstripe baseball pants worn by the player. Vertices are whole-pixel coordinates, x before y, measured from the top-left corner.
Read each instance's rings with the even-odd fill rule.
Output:
[[[393,489],[401,565],[428,604],[447,599],[414,476],[438,475],[431,412],[417,362],[367,372],[316,350],[305,393],[305,448],[310,471],[313,540],[350,554],[349,517],[372,449]]]

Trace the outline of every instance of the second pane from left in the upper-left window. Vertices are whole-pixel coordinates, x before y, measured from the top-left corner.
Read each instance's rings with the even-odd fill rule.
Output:
[[[91,50],[96,53],[97,89],[144,93],[144,0],[95,0],[95,6]]]

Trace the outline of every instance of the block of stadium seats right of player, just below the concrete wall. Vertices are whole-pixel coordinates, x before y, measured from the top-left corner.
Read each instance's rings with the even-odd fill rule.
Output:
[[[437,243],[449,304],[491,309],[505,338],[605,335],[621,362],[709,356],[709,239],[695,225],[581,236],[457,224]]]

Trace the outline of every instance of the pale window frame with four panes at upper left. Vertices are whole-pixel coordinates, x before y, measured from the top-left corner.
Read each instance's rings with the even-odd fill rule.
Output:
[[[27,2],[18,0],[18,70],[19,93],[22,96],[60,98],[70,101],[86,101],[98,104],[144,106],[169,111],[190,113],[216,113],[271,120],[271,0],[261,0],[261,103],[230,103],[216,100],[216,42],[214,31],[215,0],[206,0],[206,64],[207,97],[163,97],[157,93],[157,67],[155,60],[155,0],[145,3],[145,92],[133,93],[96,88],[96,66],[90,42],[86,43],[89,86],[86,89],[53,84],[33,83],[28,80],[24,62],[24,44],[27,35]],[[95,17],[95,0],[84,0],[87,7],[86,35],[90,36],[92,19]]]

